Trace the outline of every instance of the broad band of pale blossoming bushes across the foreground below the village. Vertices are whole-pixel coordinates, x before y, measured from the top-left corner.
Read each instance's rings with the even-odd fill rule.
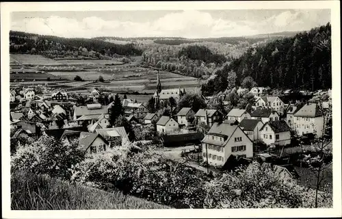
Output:
[[[42,136],[15,151],[12,171],[47,174],[103,190],[109,183],[123,194],[170,207],[315,207],[315,190],[292,179],[284,180],[272,168],[257,162],[213,177],[166,159],[149,144],[139,142],[125,142],[83,157],[77,146]],[[319,191],[317,198],[318,207],[332,206],[331,194]]]

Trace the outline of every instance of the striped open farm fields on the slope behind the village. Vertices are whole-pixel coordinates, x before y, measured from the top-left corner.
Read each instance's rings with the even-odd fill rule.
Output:
[[[51,84],[51,86],[60,86],[60,88],[74,92],[84,92],[86,88],[99,87],[111,92],[140,92],[147,94],[153,94],[156,90],[157,72],[150,68],[137,66],[142,59],[140,56],[132,57],[133,62],[129,64],[122,64],[116,60],[51,60],[42,55],[28,54],[11,54],[10,57],[13,70],[25,71],[25,73],[11,74],[11,81],[22,81],[24,79],[25,81],[37,83],[38,81],[47,81],[48,77],[52,81],[69,80],[70,83]],[[42,65],[47,65],[47,68],[42,68]],[[64,68],[70,68],[72,65],[77,65],[80,70],[75,68],[73,68],[75,71],[73,69],[64,70]],[[38,68],[42,68],[45,73],[36,73]],[[74,81],[77,75],[84,81]],[[98,80],[99,76],[105,79],[105,83],[92,83]],[[166,71],[160,71],[159,77],[162,89],[185,88],[187,92],[200,89],[200,80],[194,77]]]

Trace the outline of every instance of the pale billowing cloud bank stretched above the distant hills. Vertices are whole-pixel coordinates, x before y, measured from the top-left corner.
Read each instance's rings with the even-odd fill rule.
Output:
[[[96,36],[180,36],[208,38],[248,36],[275,31],[310,29],[324,24],[317,12],[285,11],[259,21],[229,21],[214,18],[209,12],[189,10],[168,13],[155,21],[103,20],[98,16],[83,19],[50,16],[25,18],[12,22],[12,30],[62,37],[92,38]],[[324,19],[323,19],[324,20]],[[309,27],[310,26],[310,27]]]

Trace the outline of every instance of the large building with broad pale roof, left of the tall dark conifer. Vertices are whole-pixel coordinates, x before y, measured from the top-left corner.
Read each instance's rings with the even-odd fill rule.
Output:
[[[73,120],[77,120],[81,116],[98,118],[102,114],[108,114],[107,106],[100,103],[88,104],[86,106],[74,107]]]

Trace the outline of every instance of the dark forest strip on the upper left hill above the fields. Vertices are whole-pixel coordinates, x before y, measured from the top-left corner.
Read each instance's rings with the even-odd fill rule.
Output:
[[[10,53],[28,53],[46,57],[112,57],[118,55],[141,55],[134,44],[114,44],[103,40],[86,38],[62,38],[42,36],[20,31],[10,31]]]

